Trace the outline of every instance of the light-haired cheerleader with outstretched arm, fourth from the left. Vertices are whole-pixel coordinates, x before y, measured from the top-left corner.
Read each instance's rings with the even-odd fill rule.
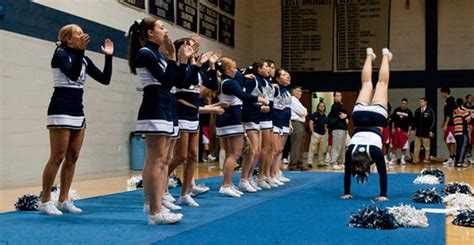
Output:
[[[268,105],[268,99],[246,94],[243,91],[243,77],[237,72],[235,61],[229,58],[221,59],[221,94],[219,99],[229,105],[224,114],[217,117],[216,135],[221,138],[225,151],[224,178],[219,193],[240,197],[240,192],[232,184],[232,173],[235,163],[242,154],[244,141],[244,127],[242,126],[242,101],[246,103],[262,103]]]

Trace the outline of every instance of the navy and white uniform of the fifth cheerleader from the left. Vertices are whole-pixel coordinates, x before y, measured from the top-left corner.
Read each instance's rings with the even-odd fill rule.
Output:
[[[256,76],[256,79],[246,80],[244,82],[245,93],[256,97],[265,97],[261,80],[263,77],[259,75]],[[260,131],[261,107],[262,103],[260,102],[243,102],[242,124],[245,131]]]

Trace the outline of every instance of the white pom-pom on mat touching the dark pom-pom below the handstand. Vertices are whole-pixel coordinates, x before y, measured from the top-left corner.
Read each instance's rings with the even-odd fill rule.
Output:
[[[393,206],[388,208],[398,226],[400,227],[428,227],[428,218],[425,212],[417,210],[411,205],[400,204],[400,206]]]

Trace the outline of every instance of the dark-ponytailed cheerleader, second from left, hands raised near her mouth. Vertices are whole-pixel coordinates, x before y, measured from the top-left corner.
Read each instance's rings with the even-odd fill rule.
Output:
[[[168,170],[166,158],[174,133],[171,88],[180,86],[185,72],[176,64],[175,48],[167,32],[163,22],[153,17],[135,21],[129,30],[130,70],[139,76],[143,86],[136,132],[146,135],[143,182],[145,199],[149,202],[149,224],[170,224],[182,218],[181,214],[162,208]],[[166,58],[159,52],[160,46],[164,46]],[[178,52],[179,63],[185,64],[193,52],[192,47],[183,46]]]

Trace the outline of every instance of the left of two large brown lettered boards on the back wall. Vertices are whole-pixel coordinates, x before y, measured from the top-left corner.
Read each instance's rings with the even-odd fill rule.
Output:
[[[333,70],[334,0],[282,0],[282,67]]]

